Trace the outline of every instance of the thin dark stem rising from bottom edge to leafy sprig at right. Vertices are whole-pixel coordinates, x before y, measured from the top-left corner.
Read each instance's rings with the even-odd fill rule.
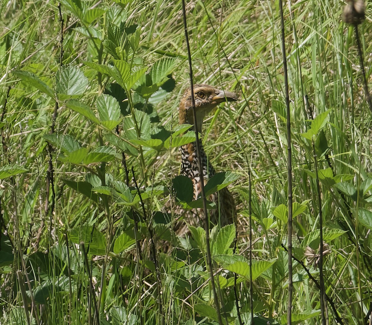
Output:
[[[312,140],[312,150],[314,152],[314,164],[315,164],[315,177],[317,182],[317,194],[318,194],[318,206],[319,206],[319,231],[320,231],[320,257],[319,257],[319,273],[320,273],[320,309],[321,309],[321,318],[322,324],[325,325],[327,323],[326,320],[326,305],[325,305],[325,288],[324,288],[324,275],[323,275],[323,214],[322,214],[322,199],[320,196],[320,184],[319,184],[319,176],[318,176],[318,160],[317,160],[317,153],[315,151],[315,144],[314,140]]]

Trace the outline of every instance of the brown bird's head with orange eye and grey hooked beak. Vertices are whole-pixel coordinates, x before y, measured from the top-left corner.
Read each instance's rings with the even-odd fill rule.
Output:
[[[201,132],[203,118],[212,109],[222,102],[237,101],[238,96],[234,92],[223,91],[209,85],[194,85],[194,99],[196,111],[196,123]],[[194,116],[191,104],[191,89],[187,89],[182,96],[179,108],[180,124],[189,123],[194,125]]]

